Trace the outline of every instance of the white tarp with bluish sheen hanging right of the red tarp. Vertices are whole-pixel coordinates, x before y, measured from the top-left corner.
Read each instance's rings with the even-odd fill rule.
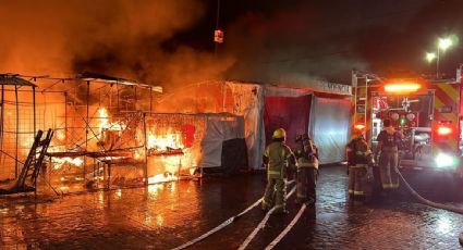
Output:
[[[342,162],[350,128],[350,98],[314,96],[309,134],[319,149],[321,164]]]

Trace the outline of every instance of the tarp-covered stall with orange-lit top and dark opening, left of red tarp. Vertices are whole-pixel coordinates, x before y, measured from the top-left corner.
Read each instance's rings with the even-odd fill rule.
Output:
[[[198,166],[206,172],[236,173],[261,164],[263,88],[207,80],[182,86],[156,100],[157,110],[206,116]]]

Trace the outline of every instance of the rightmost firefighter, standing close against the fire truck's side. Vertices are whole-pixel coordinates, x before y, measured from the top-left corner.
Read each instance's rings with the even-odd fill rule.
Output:
[[[399,188],[399,146],[402,141],[402,134],[397,132],[390,120],[385,118],[382,129],[377,138],[379,153],[379,176],[382,190],[386,195]]]

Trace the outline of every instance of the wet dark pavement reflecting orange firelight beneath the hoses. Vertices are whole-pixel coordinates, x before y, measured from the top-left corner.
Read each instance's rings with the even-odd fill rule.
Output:
[[[425,197],[463,208],[461,187],[407,174]],[[342,166],[320,171],[318,201],[276,249],[461,249],[463,215],[414,202],[404,190],[370,204],[349,202]],[[0,249],[171,249],[260,198],[265,175],[209,177],[54,198],[0,198]],[[298,211],[271,215],[248,249],[264,249]],[[265,213],[255,208],[191,249],[237,249]]]

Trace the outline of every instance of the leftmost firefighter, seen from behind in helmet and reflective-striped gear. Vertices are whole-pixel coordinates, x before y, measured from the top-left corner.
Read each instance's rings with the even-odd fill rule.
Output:
[[[272,142],[264,152],[264,163],[267,165],[267,187],[263,199],[263,210],[270,210],[275,195],[275,212],[288,213],[285,210],[287,168],[295,164],[295,157],[284,143],[287,133],[283,128],[273,132]]]

